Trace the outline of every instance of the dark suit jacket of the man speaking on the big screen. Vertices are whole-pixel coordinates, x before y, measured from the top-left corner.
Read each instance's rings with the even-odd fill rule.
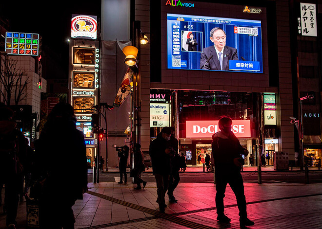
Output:
[[[212,58],[206,63],[207,59],[211,56]],[[223,49],[222,56],[222,70],[229,70],[228,60],[238,60],[237,49],[225,46]],[[204,66],[204,67],[203,67]],[[210,46],[203,49],[203,53],[200,56],[200,69],[210,69],[210,70],[221,70],[218,55],[215,50],[215,46]]]

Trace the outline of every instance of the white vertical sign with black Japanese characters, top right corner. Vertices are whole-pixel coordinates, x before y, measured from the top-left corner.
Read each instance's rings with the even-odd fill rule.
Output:
[[[301,7],[301,33],[302,36],[317,36],[316,5],[302,3]],[[299,23],[300,24],[300,23]],[[298,26],[300,28],[300,26]],[[299,30],[300,33],[300,30]]]

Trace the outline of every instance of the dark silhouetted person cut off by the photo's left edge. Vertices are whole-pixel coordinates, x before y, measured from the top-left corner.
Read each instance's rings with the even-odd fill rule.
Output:
[[[16,228],[16,217],[21,189],[22,171],[27,155],[26,141],[12,121],[14,112],[0,104],[0,185],[4,184],[4,209],[6,226]],[[2,199],[2,198],[1,198]]]

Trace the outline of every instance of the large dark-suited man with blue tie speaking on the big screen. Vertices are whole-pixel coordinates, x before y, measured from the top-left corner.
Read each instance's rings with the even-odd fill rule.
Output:
[[[226,46],[226,33],[219,27],[210,31],[214,46],[203,49],[200,56],[200,69],[229,70],[229,60],[238,60],[237,49]]]

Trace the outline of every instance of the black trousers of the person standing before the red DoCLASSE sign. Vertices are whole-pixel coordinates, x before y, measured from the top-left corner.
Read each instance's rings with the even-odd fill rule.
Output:
[[[227,184],[230,185],[233,190],[239,215],[241,218],[247,217],[246,211],[246,199],[244,194],[244,185],[240,171],[227,171],[216,169],[216,207],[217,214],[221,215],[224,212],[223,198],[225,197],[225,191]]]

